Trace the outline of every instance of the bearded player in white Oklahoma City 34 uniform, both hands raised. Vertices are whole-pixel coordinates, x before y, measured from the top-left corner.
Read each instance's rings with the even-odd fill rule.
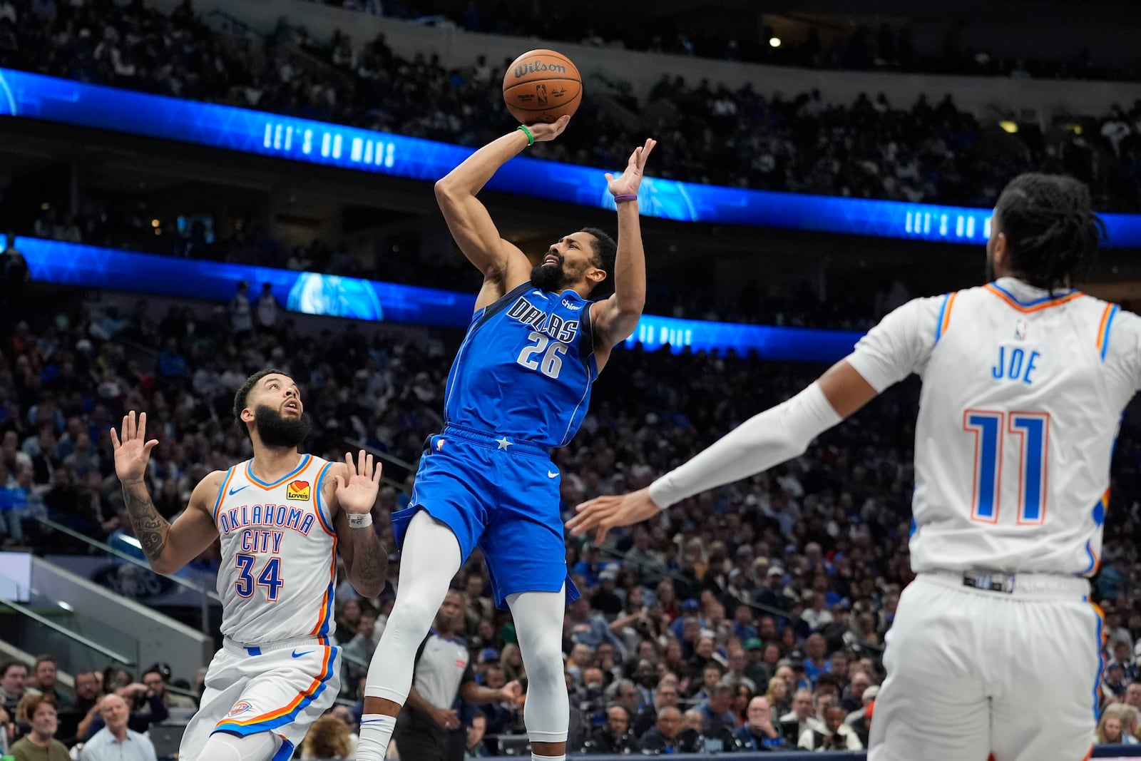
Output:
[[[183,736],[183,761],[281,761],[340,690],[333,590],[337,549],[358,592],[381,592],[388,556],[371,510],[380,468],[361,452],[332,463],[298,446],[309,430],[288,374],[262,370],[234,397],[234,416],[253,459],[202,479],[168,524],[145,484],[156,440],[146,413],[111,431],[115,472],[151,566],[175,573],[221,537],[218,594],[222,649],[207,672],[199,712]]]

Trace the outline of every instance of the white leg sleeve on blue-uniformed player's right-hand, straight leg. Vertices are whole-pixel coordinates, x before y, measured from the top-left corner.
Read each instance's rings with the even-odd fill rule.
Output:
[[[507,604],[527,669],[527,703],[523,709],[527,737],[532,743],[565,743],[570,723],[561,649],[566,590],[520,592],[508,597]]]

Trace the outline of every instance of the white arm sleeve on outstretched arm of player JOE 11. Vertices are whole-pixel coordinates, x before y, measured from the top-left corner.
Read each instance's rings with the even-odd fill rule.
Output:
[[[753,415],[736,429],[649,485],[654,503],[667,508],[714,486],[730,484],[800,456],[814,438],[841,420],[812,383],[793,398]]]

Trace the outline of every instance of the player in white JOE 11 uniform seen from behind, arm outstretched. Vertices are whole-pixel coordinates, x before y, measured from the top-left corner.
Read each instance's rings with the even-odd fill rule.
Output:
[[[1085,577],[1118,421],[1141,388],[1141,318],[1069,289],[1100,233],[1081,183],[1015,178],[987,242],[997,280],[904,305],[798,396],[568,526],[605,533],[798,456],[919,373],[917,577],[888,633],[868,759],[1090,758],[1101,621]]]

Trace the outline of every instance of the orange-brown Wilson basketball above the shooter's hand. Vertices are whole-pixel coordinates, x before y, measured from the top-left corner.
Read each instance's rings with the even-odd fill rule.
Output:
[[[524,124],[553,122],[582,103],[582,76],[570,59],[555,50],[529,50],[503,74],[503,102]]]

